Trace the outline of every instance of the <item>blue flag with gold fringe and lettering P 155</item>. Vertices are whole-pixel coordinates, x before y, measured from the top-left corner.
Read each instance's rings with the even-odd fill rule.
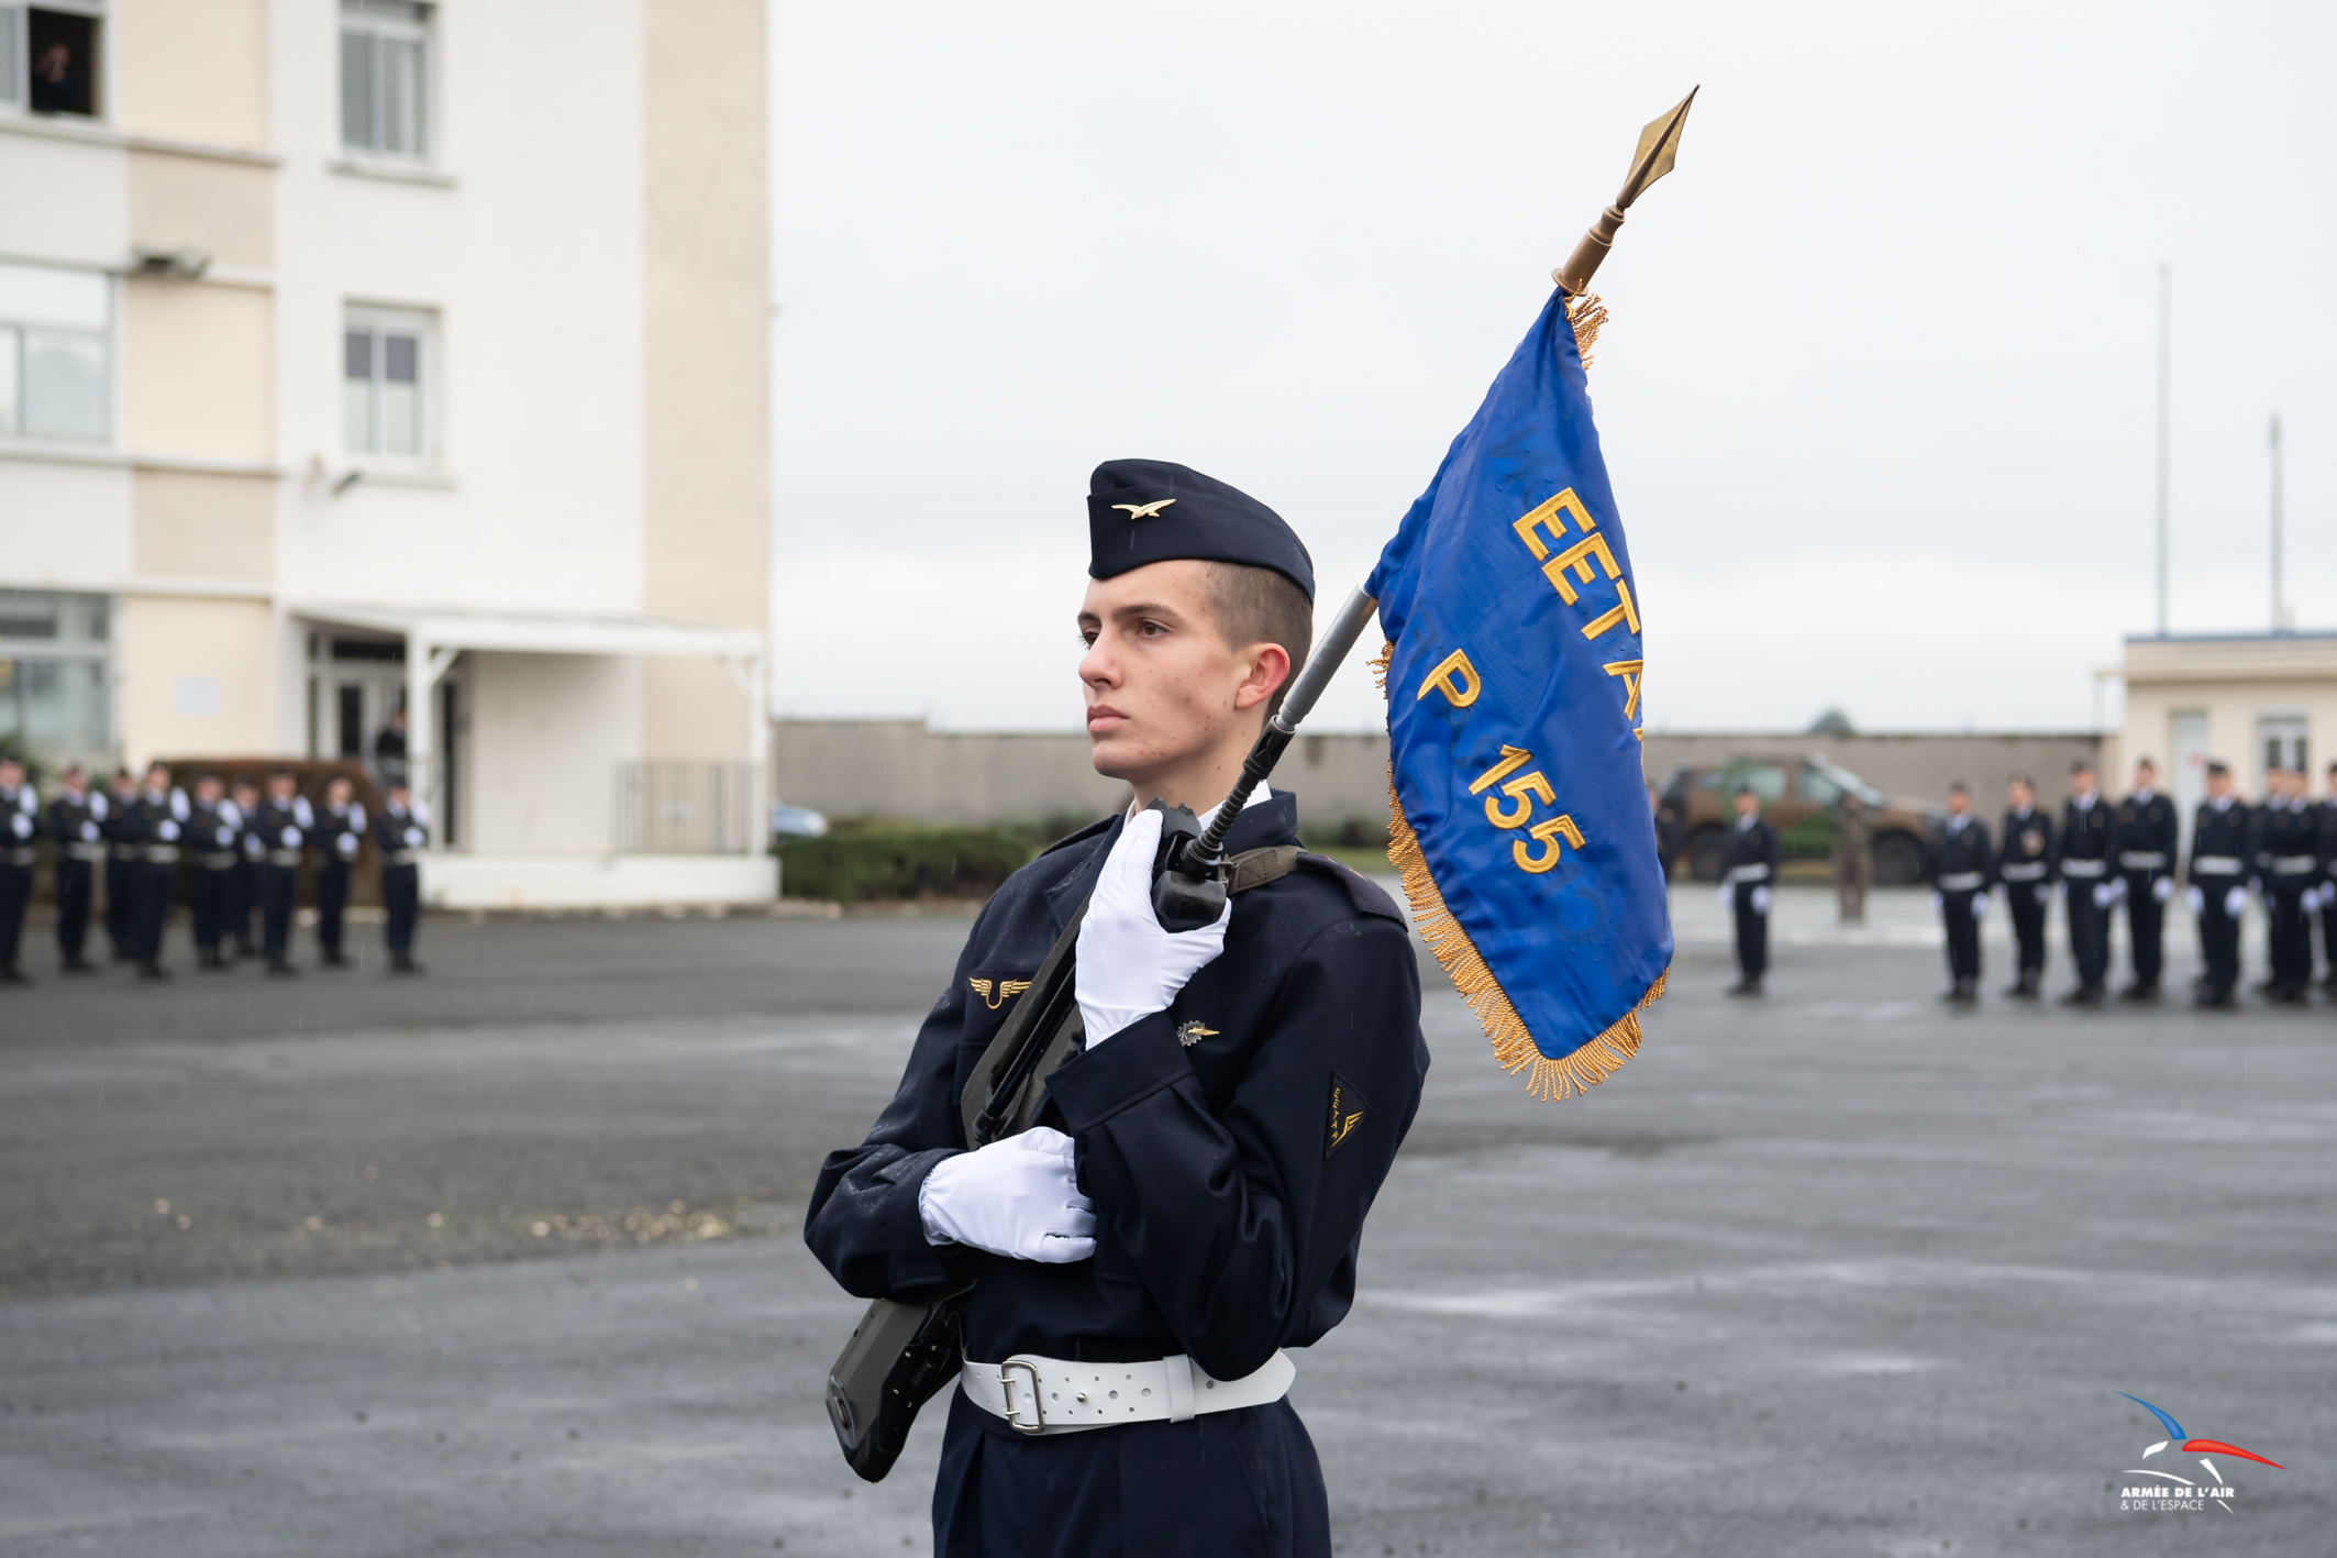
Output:
[[[1493,1058],[1603,1081],[1664,993],[1641,624],[1582,353],[1552,292],[1365,586],[1388,633],[1388,855]]]

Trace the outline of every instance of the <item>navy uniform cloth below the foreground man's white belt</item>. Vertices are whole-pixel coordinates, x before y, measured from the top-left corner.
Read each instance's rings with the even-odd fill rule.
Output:
[[[935,1558],[1330,1558],[1323,1465],[1290,1401],[1026,1437],[949,1397]]]

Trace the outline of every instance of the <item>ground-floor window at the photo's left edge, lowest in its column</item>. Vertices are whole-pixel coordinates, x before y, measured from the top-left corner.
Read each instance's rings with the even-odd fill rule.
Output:
[[[112,747],[108,598],[0,589],[0,752],[44,768]]]

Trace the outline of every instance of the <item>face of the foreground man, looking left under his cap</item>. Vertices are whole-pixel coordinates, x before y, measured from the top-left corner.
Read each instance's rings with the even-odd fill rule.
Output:
[[[1255,710],[1290,675],[1278,645],[1232,647],[1218,635],[1208,565],[1185,558],[1089,579],[1080,640],[1096,773],[1138,790],[1218,747],[1246,750],[1257,733]]]

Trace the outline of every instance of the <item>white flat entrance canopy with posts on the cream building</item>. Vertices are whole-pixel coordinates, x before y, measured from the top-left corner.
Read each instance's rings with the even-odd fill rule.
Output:
[[[362,603],[299,603],[285,610],[304,621],[390,633],[407,640],[407,773],[416,799],[435,804],[430,691],[465,649],[493,654],[638,654],[720,661],[746,701],[750,771],[767,738],[764,642],[753,628],[717,628],[668,617],[624,612],[521,612],[477,607],[411,607]],[[753,829],[750,829],[753,832]],[[750,853],[760,853],[760,839]]]

